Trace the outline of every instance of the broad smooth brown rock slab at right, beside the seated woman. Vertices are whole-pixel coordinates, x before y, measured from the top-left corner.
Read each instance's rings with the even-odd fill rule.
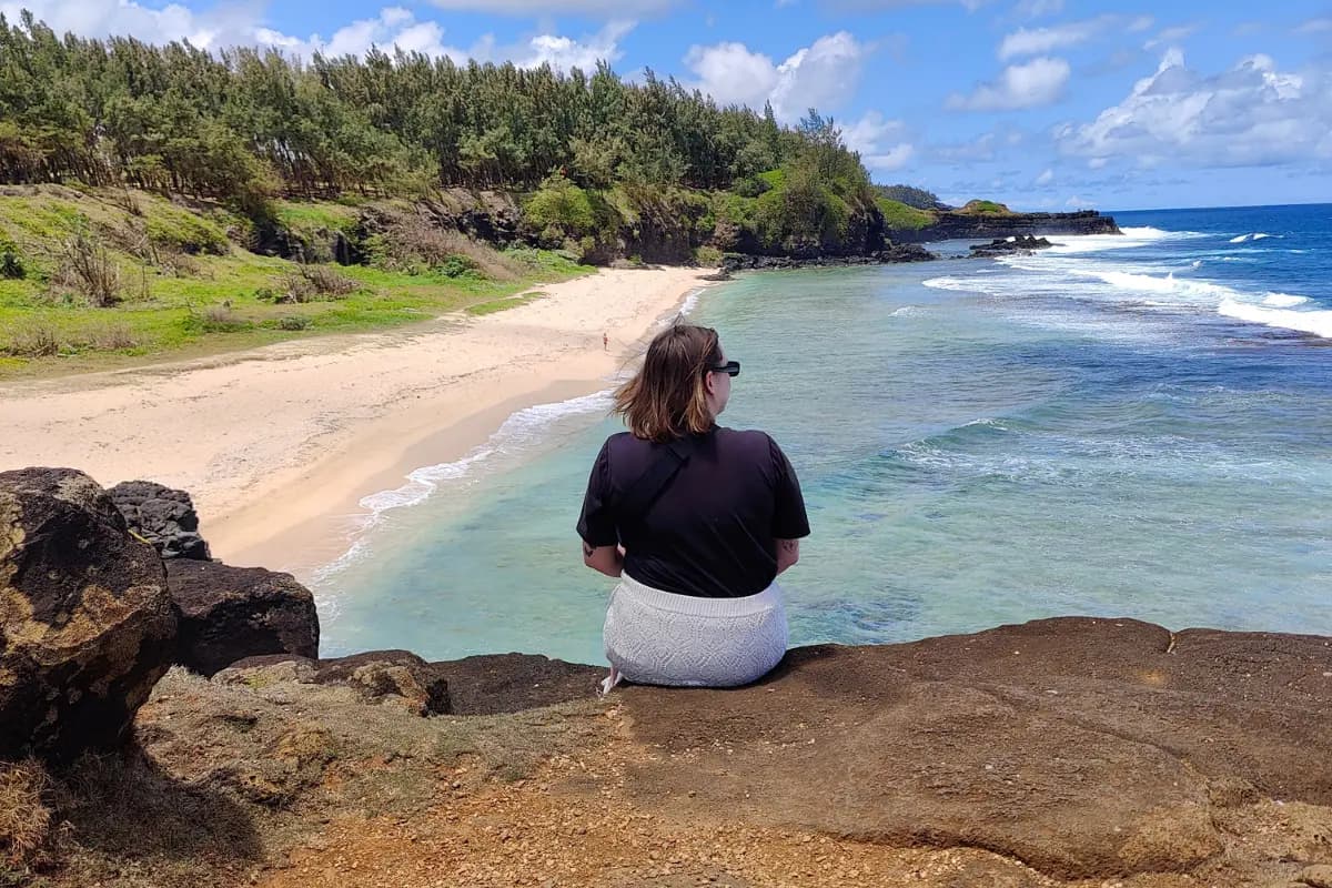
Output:
[[[1188,872],[1224,809],[1332,803],[1332,639],[1051,619],[793,650],[734,691],[630,687],[627,792],[1063,879]]]

